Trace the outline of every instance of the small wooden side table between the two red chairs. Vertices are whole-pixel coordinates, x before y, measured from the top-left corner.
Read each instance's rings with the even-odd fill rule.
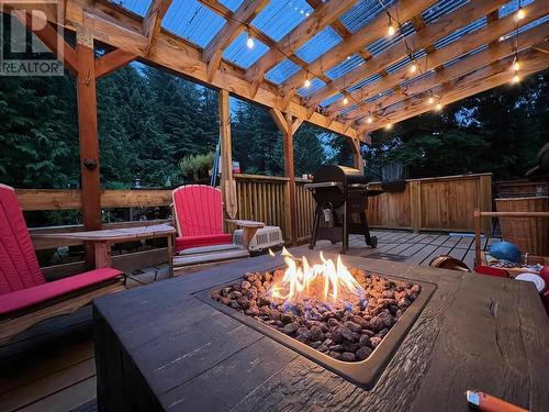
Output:
[[[67,238],[93,243],[96,269],[112,266],[111,245],[114,243],[166,237],[168,241],[169,277],[173,277],[173,235],[176,229],[167,224],[126,229],[105,229],[88,232],[61,232],[33,235],[34,238]]]

